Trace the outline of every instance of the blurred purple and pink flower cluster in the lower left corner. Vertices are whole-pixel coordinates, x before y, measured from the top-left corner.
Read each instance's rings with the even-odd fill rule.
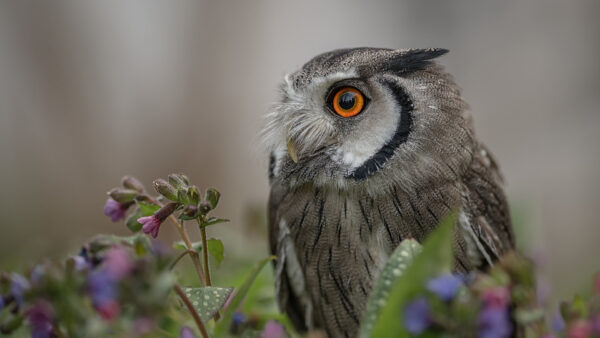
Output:
[[[39,338],[155,330],[175,279],[171,260],[143,236],[99,236],[61,264],[36,265],[27,275],[4,274],[0,332],[9,334],[23,322]]]

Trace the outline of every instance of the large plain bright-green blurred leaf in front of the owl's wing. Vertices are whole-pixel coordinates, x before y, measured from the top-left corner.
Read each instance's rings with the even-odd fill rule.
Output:
[[[392,282],[387,304],[375,319],[371,337],[409,337],[402,318],[404,307],[425,292],[425,284],[429,279],[450,271],[456,219],[456,213],[446,217],[438,228],[427,236],[421,254]]]

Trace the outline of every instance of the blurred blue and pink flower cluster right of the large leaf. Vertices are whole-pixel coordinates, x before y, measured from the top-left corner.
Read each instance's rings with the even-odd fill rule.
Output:
[[[536,293],[533,266],[510,254],[487,273],[443,274],[428,280],[425,292],[404,305],[403,324],[414,336],[596,337],[600,335],[600,275],[596,284],[592,297],[562,303],[548,324],[548,311]]]

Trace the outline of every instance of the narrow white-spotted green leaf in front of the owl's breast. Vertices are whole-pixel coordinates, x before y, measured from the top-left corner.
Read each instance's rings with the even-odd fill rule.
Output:
[[[380,310],[387,304],[394,282],[400,278],[413,259],[421,252],[421,244],[414,239],[405,239],[398,245],[387,261],[375,287],[369,296],[367,308],[360,328],[361,337],[370,337]]]

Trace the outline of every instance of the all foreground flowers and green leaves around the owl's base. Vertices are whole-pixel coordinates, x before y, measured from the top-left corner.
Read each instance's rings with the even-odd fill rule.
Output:
[[[220,194],[200,190],[182,174],[154,181],[159,196],[124,177],[109,192],[104,212],[125,220],[131,237],[101,235],[63,262],[26,273],[0,274],[0,334],[32,337],[265,337],[298,336],[287,317],[244,302],[260,271],[275,257],[249,267],[239,287],[212,283],[224,244],[207,228],[226,223],[211,215]],[[164,223],[181,241],[157,238]],[[198,227],[192,241],[188,227]],[[402,242],[377,281],[360,337],[593,337],[600,336],[600,278],[591,296],[552,311],[530,261],[510,253],[489,271],[452,273],[451,216],[423,245]],[[181,285],[174,272],[188,259],[196,282]],[[273,300],[270,300],[271,302]],[[254,306],[252,304],[252,306]],[[245,311],[243,311],[245,310]]]

